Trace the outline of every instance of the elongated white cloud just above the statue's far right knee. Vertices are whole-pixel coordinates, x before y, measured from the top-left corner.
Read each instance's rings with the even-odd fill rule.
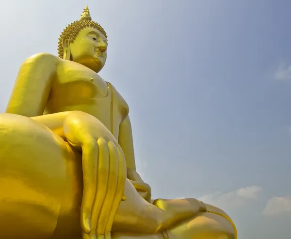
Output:
[[[246,205],[250,201],[257,199],[261,190],[262,188],[258,186],[248,186],[226,193],[215,192],[207,194],[200,197],[199,200],[204,203],[222,208],[226,208],[229,206],[241,206]]]

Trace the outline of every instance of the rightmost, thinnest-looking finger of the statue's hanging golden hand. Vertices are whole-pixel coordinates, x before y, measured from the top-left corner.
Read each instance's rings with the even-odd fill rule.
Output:
[[[109,220],[107,222],[106,229],[105,229],[105,232],[106,232],[105,239],[110,239],[108,237],[108,232],[111,232],[115,214],[118,210],[118,207],[120,205],[121,200],[123,198],[125,198],[124,187],[125,187],[126,174],[127,174],[126,173],[126,162],[125,162],[124,154],[123,154],[120,147],[117,147],[117,152],[118,152],[118,160],[119,160],[117,188],[116,188],[115,199],[113,201],[113,205],[111,208]]]

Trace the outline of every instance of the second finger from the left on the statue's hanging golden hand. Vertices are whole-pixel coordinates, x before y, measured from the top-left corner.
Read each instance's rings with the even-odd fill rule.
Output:
[[[91,227],[92,231],[97,229],[97,222],[100,216],[101,207],[104,203],[105,195],[107,193],[108,185],[108,171],[109,171],[109,149],[104,138],[97,140],[99,147],[98,168],[97,168],[97,190],[92,209]],[[93,232],[92,232],[93,233]]]

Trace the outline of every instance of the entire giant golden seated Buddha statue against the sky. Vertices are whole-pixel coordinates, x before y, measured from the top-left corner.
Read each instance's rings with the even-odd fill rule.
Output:
[[[97,74],[107,35],[87,6],[58,51],[25,60],[0,114],[0,238],[236,239],[217,207],[151,200],[129,106]]]

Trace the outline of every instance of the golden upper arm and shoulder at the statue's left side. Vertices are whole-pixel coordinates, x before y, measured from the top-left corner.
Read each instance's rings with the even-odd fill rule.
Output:
[[[56,56],[48,53],[39,53],[26,59],[18,71],[6,113],[27,117],[42,115],[57,62]]]

